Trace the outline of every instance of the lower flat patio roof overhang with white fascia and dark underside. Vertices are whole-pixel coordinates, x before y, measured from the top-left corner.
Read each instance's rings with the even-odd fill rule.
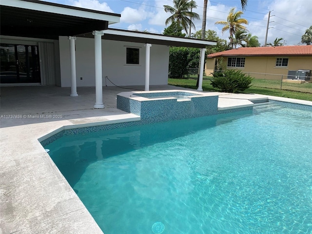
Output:
[[[117,40],[117,41],[129,41],[138,43],[150,43],[157,45],[168,45],[168,46],[183,46],[193,48],[205,48],[208,45],[216,45],[215,41],[200,40],[200,39],[189,39],[179,38],[167,35],[135,32],[120,29],[107,29],[104,30],[104,36],[102,39]],[[78,35],[79,37],[94,38],[89,34]]]

